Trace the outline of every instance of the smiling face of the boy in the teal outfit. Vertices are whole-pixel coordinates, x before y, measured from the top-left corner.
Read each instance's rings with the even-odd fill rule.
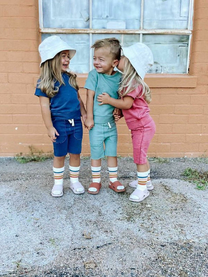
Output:
[[[112,75],[118,60],[114,60],[110,53],[110,47],[100,47],[94,49],[93,66],[98,73]]]

